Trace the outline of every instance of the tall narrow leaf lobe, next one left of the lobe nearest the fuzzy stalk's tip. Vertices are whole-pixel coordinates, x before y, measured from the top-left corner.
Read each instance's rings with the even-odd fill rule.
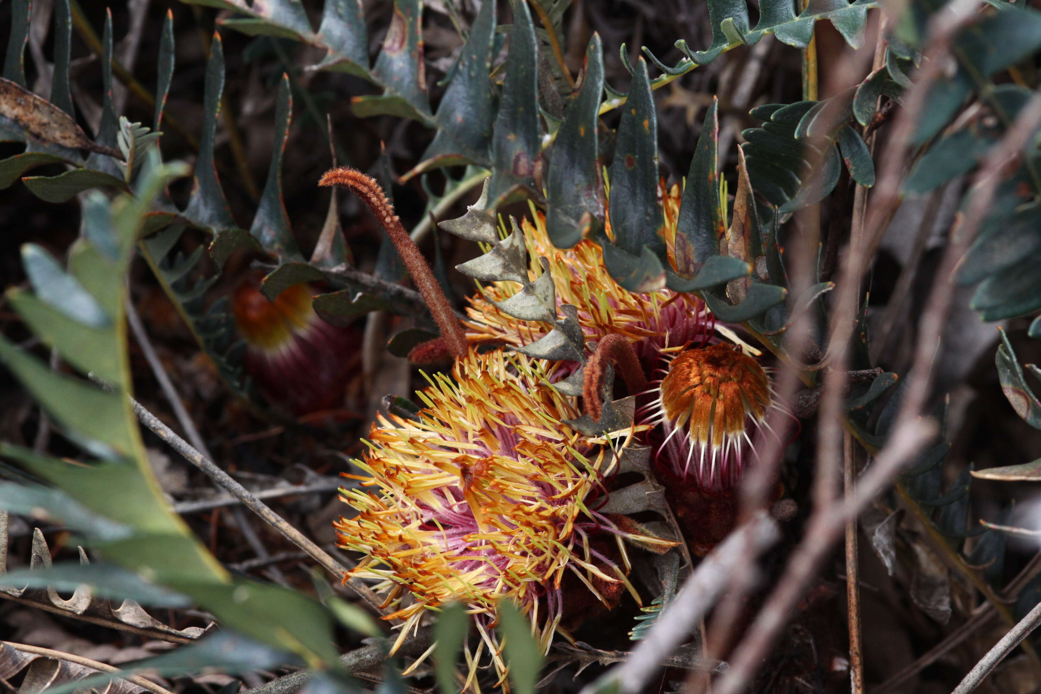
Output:
[[[196,159],[195,185],[184,216],[215,233],[234,228],[235,221],[221,188],[213,161],[213,139],[221,110],[221,94],[224,92],[224,48],[220,33],[213,33],[210,48],[203,91],[202,135],[199,138],[199,158]]]

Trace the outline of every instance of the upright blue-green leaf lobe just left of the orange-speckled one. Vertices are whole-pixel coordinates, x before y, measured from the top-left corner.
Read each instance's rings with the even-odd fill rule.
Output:
[[[586,48],[582,86],[564,109],[545,180],[545,230],[553,245],[569,249],[604,225],[604,182],[598,155],[604,56],[600,34]]]

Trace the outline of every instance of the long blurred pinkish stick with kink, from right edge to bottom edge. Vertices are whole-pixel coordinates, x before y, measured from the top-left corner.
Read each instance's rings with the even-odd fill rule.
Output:
[[[955,0],[954,4],[957,5],[962,1]],[[738,646],[736,658],[731,663],[731,670],[720,680],[717,694],[738,694],[751,683],[752,676],[786,622],[791,609],[816,572],[818,564],[827,557],[830,545],[837,539],[836,519],[841,518],[844,522],[847,517],[856,517],[859,508],[881,491],[890,482],[890,478],[899,470],[900,465],[935,435],[935,422],[922,417],[922,411],[932,382],[933,356],[943,334],[946,315],[954,298],[955,269],[975,238],[980,223],[990,208],[994,190],[999,182],[1000,171],[1010,159],[1019,154],[1039,126],[1041,126],[1041,95],[1035,94],[1020,110],[1016,122],[1006,132],[1001,142],[988,154],[976,176],[979,183],[965,216],[951,233],[950,243],[943,254],[936,281],[922,313],[920,338],[908,378],[908,387],[896,415],[895,431],[886,447],[879,454],[874,465],[864,474],[856,491],[842,507],[830,513],[815,513],[811,517],[806,537],[792,555],[777,590]],[[932,426],[928,426],[926,421]],[[999,611],[1002,608],[1005,606],[998,606]],[[1007,609],[1005,612],[1007,613]],[[1032,651],[1033,649],[1029,652]]]

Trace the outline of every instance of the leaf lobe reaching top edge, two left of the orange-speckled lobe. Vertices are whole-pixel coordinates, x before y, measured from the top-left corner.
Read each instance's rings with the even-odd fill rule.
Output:
[[[532,187],[539,154],[538,42],[527,2],[513,7],[513,30],[499,117],[491,136],[494,174],[488,184],[488,209],[519,186]]]

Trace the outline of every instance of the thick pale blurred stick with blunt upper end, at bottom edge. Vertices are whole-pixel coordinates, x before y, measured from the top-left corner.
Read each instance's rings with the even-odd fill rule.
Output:
[[[593,694],[608,683],[614,684],[619,694],[641,691],[660,669],[662,660],[690,636],[697,622],[715,605],[734,573],[747,568],[748,554],[758,555],[773,545],[780,537],[777,521],[762,511],[731,533],[702,560],[629,659],[586,685],[581,694]]]

